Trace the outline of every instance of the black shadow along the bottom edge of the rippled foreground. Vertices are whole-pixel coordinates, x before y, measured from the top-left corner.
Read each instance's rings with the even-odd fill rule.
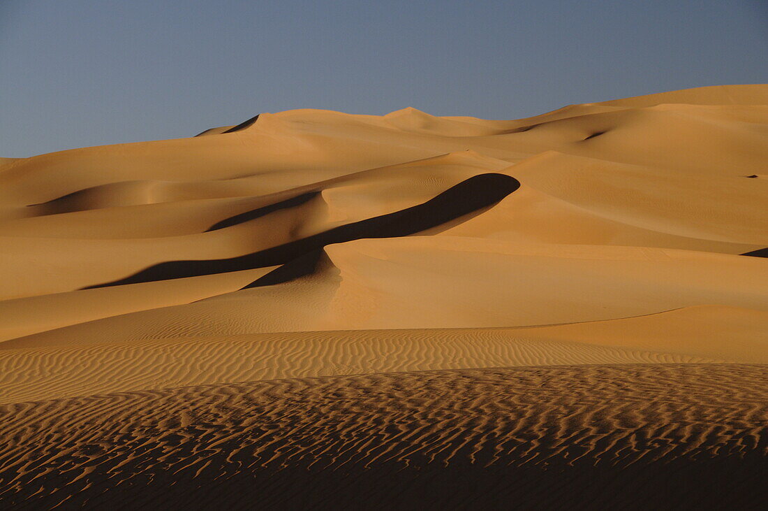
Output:
[[[219,467],[223,456],[212,457]],[[558,463],[538,466],[455,464],[402,468],[398,463],[317,470],[254,466],[220,478],[136,467],[130,484],[109,473],[61,509],[761,509],[766,459],[641,462],[624,468]],[[56,473],[5,496],[5,509],[51,509],[66,495]],[[65,483],[66,481],[61,481]],[[42,486],[48,491],[35,490]],[[36,493],[35,495],[31,495]],[[59,509],[59,508],[57,508]]]

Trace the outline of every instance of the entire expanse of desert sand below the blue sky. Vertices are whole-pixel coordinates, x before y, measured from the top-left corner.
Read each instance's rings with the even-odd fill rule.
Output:
[[[768,85],[0,158],[0,503],[757,507],[766,247]]]

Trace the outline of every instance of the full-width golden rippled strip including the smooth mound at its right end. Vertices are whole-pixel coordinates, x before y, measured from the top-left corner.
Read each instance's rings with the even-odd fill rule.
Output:
[[[768,312],[704,306],[545,327],[245,334],[233,334],[220,323],[217,336],[184,332],[185,337],[130,342],[115,339],[108,329],[90,336],[53,330],[8,341],[10,349],[0,351],[0,403],[75,397],[84,389],[125,392],[438,369],[768,363],[768,349],[755,342],[764,340],[766,316]],[[119,327],[112,325],[113,331]]]

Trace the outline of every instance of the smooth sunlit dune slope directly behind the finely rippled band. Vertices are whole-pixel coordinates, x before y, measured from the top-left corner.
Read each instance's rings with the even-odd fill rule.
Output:
[[[650,349],[765,360],[749,358],[766,350],[768,267],[758,257],[448,236],[364,239],[326,252],[325,264],[307,277],[35,333],[0,348],[286,331],[535,327],[717,304],[717,331],[753,326],[733,339],[717,337],[723,342],[711,343],[714,351],[700,353],[690,347],[698,346],[700,333],[709,338],[700,325],[710,320],[686,320],[674,329],[679,340],[662,336],[668,345]],[[645,337],[661,335],[646,331]],[[621,338],[621,331],[614,334]]]

